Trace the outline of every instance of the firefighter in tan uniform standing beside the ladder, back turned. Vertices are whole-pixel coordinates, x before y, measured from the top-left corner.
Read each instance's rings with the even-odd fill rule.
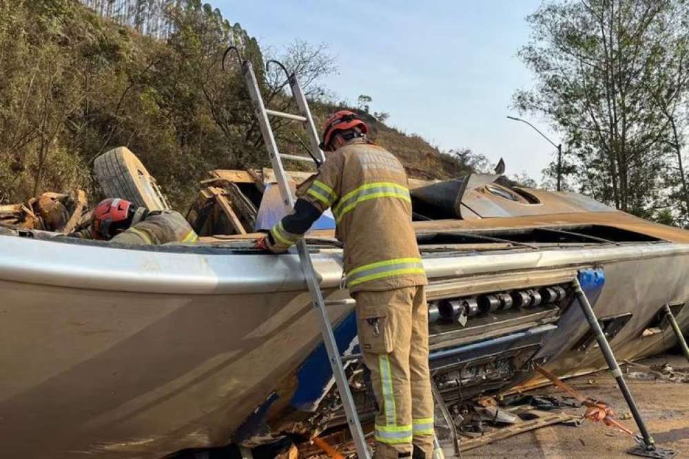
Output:
[[[367,125],[338,111],[325,126],[330,152],[298,189],[294,211],[257,246],[287,250],[332,209],[344,242],[347,287],[356,300],[359,344],[380,407],[376,458],[431,458],[433,398],[429,374],[426,274],[411,225],[402,164],[367,140]]]

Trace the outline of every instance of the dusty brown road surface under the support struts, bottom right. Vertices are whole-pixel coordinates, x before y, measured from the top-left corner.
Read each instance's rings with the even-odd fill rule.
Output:
[[[651,365],[664,362],[675,368],[689,367],[683,356],[672,354],[656,356],[639,363]],[[619,418],[623,418],[620,420],[621,424],[638,431],[633,419],[624,419],[630,416],[629,409],[609,372],[571,378],[567,383],[584,396],[608,403]],[[627,383],[657,445],[679,451],[677,458],[689,458],[689,383],[642,381],[635,378],[627,378]],[[562,394],[552,386],[529,393]],[[583,414],[584,408],[573,408],[568,412]],[[485,447],[464,451],[462,457],[621,459],[634,457],[626,454],[633,446],[633,440],[626,434],[602,423],[584,421],[580,427],[553,425],[528,431]]]

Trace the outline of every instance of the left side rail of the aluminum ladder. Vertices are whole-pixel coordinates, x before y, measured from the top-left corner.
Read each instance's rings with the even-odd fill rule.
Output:
[[[263,140],[275,172],[280,194],[282,195],[282,201],[285,203],[285,206],[291,207],[294,205],[294,196],[287,185],[287,174],[285,173],[284,167],[282,167],[280,153],[273,136],[273,131],[270,127],[263,98],[260,95],[260,89],[258,88],[256,75],[254,74],[254,69],[251,65],[251,62],[245,62],[243,65],[243,72],[245,81],[247,83],[247,89],[249,90],[249,96],[251,96],[251,101],[254,103],[254,111],[256,113],[256,118],[258,119],[258,124],[260,125],[261,134],[263,134]],[[309,120],[311,120],[310,114]],[[311,120],[311,127],[313,127],[313,120]],[[315,129],[316,128],[313,127],[313,133],[316,132]],[[320,151],[320,149],[318,149],[318,151]],[[322,156],[322,152],[320,154]],[[305,281],[307,287],[309,288],[309,292],[311,293],[311,299],[313,299],[313,307],[318,311],[317,313],[320,319],[323,342],[325,343],[325,348],[328,353],[330,366],[333,370],[333,376],[335,376],[340,398],[342,398],[342,406],[344,407],[345,414],[347,415],[347,423],[349,424],[349,429],[351,430],[358,456],[362,459],[369,459],[371,457],[369,449],[367,447],[366,439],[356,413],[356,405],[354,404],[353,397],[351,396],[349,381],[347,381],[345,369],[342,367],[342,361],[340,361],[340,351],[338,350],[337,342],[335,341],[335,336],[333,335],[330,318],[325,309],[325,301],[320,290],[320,285],[318,284],[318,281],[316,281],[316,270],[313,268],[313,262],[311,261],[305,239],[300,239],[296,243],[296,248],[301,261]]]

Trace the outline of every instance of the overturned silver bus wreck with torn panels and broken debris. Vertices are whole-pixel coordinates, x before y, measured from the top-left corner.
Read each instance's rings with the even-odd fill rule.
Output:
[[[117,149],[96,161],[103,189],[167,206],[132,157]],[[296,186],[308,175],[291,178]],[[187,213],[197,244],[55,237],[69,226],[46,226],[35,202],[12,208],[17,217],[0,214],[15,226],[0,228],[3,452],[158,458],[346,430],[298,257],[252,248],[256,231],[285,213],[274,182],[270,169],[209,173]],[[577,193],[506,186],[498,175],[410,180],[410,189],[430,281],[436,428],[450,449],[471,430],[469,399],[544,383],[535,365],[561,377],[605,366],[573,306],[579,270],[595,268],[584,290],[620,360],[675,344],[664,306],[689,325],[687,231]],[[83,222],[76,205],[63,204],[68,220]],[[307,240],[327,299],[342,300],[333,227],[326,213]],[[353,301],[330,312],[367,423],[376,407]]]

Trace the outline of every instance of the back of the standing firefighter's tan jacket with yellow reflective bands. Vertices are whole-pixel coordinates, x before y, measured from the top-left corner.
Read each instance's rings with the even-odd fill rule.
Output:
[[[345,243],[350,291],[426,284],[411,224],[407,173],[389,151],[367,142],[340,148],[342,186],[333,205]]]

